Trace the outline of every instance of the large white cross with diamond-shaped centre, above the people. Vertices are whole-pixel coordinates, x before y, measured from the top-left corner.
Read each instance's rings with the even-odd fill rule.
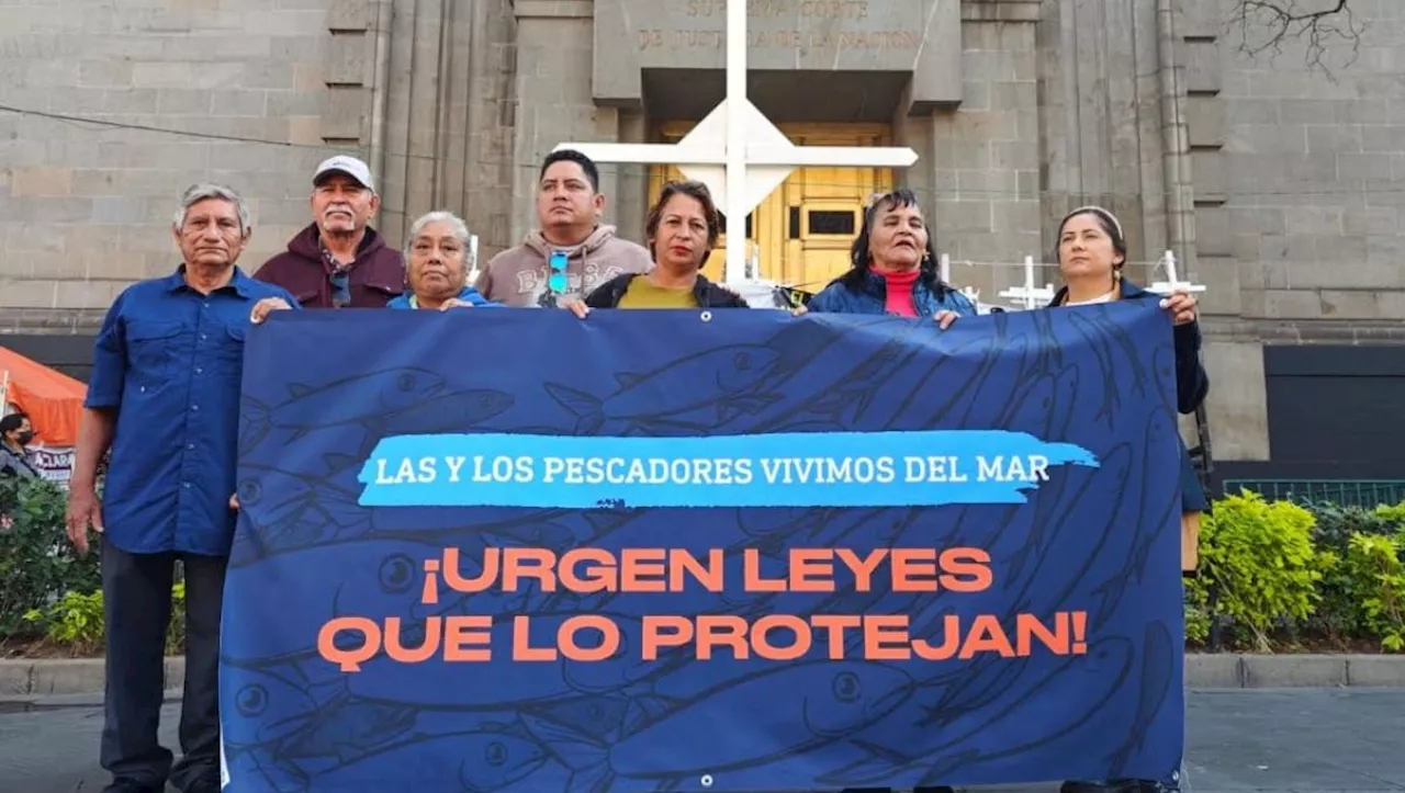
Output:
[[[726,213],[725,281],[746,274],[746,216],[797,167],[901,167],[917,161],[905,146],[795,146],[746,98],[746,0],[726,3],[726,98],[677,143],[562,143],[600,163],[674,164],[712,191]]]

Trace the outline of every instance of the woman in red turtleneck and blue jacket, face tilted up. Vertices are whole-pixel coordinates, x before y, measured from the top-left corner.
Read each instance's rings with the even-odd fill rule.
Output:
[[[853,267],[794,313],[930,317],[946,330],[975,305],[937,275],[937,250],[910,189],[877,196],[850,248]]]

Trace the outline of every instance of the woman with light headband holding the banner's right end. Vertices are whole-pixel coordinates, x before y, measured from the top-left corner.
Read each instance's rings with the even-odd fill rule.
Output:
[[[1175,328],[1172,334],[1176,349],[1176,408],[1180,413],[1194,413],[1210,392],[1210,378],[1200,364],[1196,299],[1183,292],[1162,298],[1123,276],[1123,267],[1127,264],[1127,237],[1123,234],[1123,225],[1107,209],[1080,206],[1069,212],[1059,222],[1057,239],[1055,255],[1065,286],[1054,293],[1050,306],[1158,300],[1170,314]],[[1193,566],[1200,514],[1208,509],[1210,504],[1183,442],[1177,476],[1182,490],[1182,568],[1186,570],[1187,566]],[[1072,780],[1061,787],[1061,793],[1162,793],[1163,790],[1158,782],[1141,779]]]

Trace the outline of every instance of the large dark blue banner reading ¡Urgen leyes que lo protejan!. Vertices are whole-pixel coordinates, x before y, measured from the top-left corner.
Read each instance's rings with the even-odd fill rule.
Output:
[[[275,313],[228,786],[1170,780],[1163,312]]]

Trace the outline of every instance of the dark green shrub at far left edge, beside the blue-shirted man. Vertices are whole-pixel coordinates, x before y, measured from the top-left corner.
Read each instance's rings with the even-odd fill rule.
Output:
[[[65,528],[67,493],[34,479],[0,479],[0,640],[32,630],[25,616],[67,592],[101,585],[97,553],[77,556]]]

